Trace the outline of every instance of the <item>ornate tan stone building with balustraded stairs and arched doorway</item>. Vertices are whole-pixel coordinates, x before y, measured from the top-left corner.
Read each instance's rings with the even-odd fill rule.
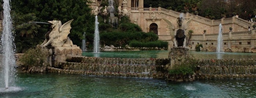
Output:
[[[144,8],[144,0],[117,0],[118,6],[127,9],[131,15],[132,23],[138,24],[144,32],[153,31],[159,36],[160,40],[168,41],[169,48],[173,46],[171,41],[171,31],[168,29],[168,23],[163,18],[169,20],[177,26],[176,19],[181,13],[165,8]],[[92,6],[100,5],[101,0],[92,3]],[[94,7],[92,7],[94,8]],[[222,24],[223,50],[229,52],[256,52],[256,36],[253,24],[246,20],[232,17],[219,20],[210,20],[202,16],[190,13],[184,14],[185,20],[192,19],[188,24],[188,30],[193,30],[193,34],[188,41],[188,46],[193,50],[197,44],[202,44],[202,50],[215,51],[219,33],[219,24]],[[251,27],[251,31],[248,31]],[[204,32],[206,31],[206,32]]]

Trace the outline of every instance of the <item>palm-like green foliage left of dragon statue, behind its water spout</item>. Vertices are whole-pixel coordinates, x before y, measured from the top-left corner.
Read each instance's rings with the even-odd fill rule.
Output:
[[[37,17],[35,14],[24,14],[18,15],[13,14],[15,21],[15,46],[16,52],[24,53],[27,49],[36,46],[38,43],[44,41],[44,33],[47,29],[42,28],[45,24],[36,24],[33,23]]]

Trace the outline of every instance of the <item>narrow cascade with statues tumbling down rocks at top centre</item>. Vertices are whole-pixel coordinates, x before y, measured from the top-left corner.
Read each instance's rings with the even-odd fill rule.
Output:
[[[108,23],[110,23],[113,27],[117,27],[118,18],[115,17],[114,0],[108,0],[107,11],[108,11],[108,13],[110,14]]]

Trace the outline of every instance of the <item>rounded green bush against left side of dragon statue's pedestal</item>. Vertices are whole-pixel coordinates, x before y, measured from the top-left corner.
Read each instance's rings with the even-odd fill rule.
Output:
[[[24,64],[26,69],[30,67],[46,67],[48,50],[42,49],[42,47],[37,46],[36,48],[30,48],[25,52],[25,54],[21,57],[20,61]]]

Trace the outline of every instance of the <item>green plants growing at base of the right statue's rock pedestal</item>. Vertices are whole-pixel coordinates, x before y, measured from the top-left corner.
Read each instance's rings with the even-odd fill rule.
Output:
[[[186,58],[186,61],[180,65],[174,65],[174,67],[169,69],[169,74],[171,75],[192,75],[196,71],[196,66],[199,64],[197,59],[192,57]]]

